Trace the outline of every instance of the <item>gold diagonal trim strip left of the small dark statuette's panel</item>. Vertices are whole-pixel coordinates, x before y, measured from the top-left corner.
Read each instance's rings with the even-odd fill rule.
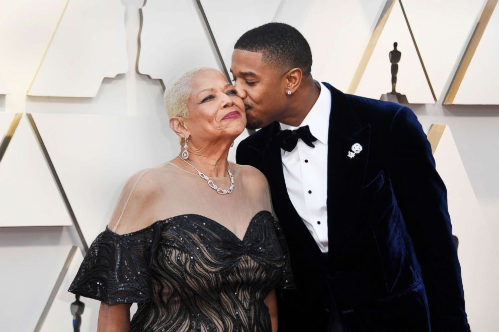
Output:
[[[376,23],[376,27],[373,30],[373,33],[371,35],[371,38],[369,39],[369,42],[367,43],[366,49],[364,50],[364,54],[362,55],[362,58],[359,62],[359,65],[357,66],[357,70],[355,71],[354,77],[352,78],[352,81],[350,82],[350,86],[348,87],[347,93],[354,94],[355,91],[357,91],[357,88],[359,87],[360,80],[362,79],[362,76],[364,75],[364,72],[366,71],[367,64],[369,63],[369,60],[371,59],[371,56],[374,52],[374,48],[376,47],[376,44],[378,43],[379,37],[381,36],[381,33],[383,32],[383,28],[385,27],[386,21],[388,20],[388,17],[390,16],[391,10],[393,8],[393,5],[395,4],[395,0],[388,0],[381,12],[381,15],[379,16],[378,22]]]

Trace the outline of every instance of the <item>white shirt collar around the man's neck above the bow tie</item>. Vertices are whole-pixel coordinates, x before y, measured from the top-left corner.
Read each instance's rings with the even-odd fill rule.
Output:
[[[314,81],[319,84],[320,93],[314,105],[308,112],[305,119],[298,127],[307,126],[310,128],[312,135],[321,143],[327,145],[327,133],[329,128],[329,113],[331,112],[331,92],[324,84]],[[298,127],[292,127],[279,123],[281,130],[294,130]]]

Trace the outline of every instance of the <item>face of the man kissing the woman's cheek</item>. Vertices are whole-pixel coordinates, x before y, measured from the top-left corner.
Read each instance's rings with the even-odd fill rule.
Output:
[[[230,71],[244,101],[247,129],[265,127],[281,117],[287,101],[281,68],[264,64],[261,52],[235,49]]]

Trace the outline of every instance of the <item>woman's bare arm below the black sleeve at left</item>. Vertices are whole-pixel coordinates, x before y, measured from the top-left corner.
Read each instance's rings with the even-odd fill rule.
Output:
[[[130,330],[130,303],[109,305],[101,302],[98,332],[128,332]]]

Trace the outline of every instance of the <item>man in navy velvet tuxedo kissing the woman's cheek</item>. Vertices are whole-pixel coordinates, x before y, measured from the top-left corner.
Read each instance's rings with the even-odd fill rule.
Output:
[[[445,186],[412,111],[347,95],[310,74],[293,27],[242,35],[231,72],[246,106],[237,162],[260,169],[297,290],[282,331],[467,331]]]

